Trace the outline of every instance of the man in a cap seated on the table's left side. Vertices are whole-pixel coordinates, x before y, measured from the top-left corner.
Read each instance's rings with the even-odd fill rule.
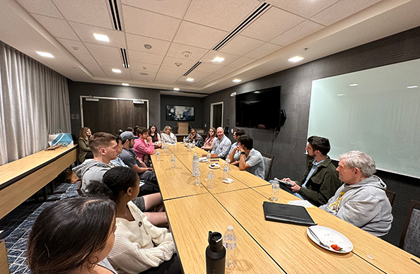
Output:
[[[122,153],[120,153],[118,157],[121,158],[125,165],[134,169],[134,171],[139,174],[141,180],[154,185],[154,190],[151,193],[159,192],[158,179],[156,179],[153,167],[146,167],[143,160],[139,159],[133,150],[134,139],[137,137],[130,131],[125,131],[121,133],[120,136],[122,141]]]

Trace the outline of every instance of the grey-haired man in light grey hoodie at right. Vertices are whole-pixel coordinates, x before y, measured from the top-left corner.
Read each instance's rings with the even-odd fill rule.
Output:
[[[375,173],[375,161],[361,151],[339,156],[339,179],[344,184],[322,210],[360,227],[377,237],[391,228],[391,204],[385,193],[386,185]]]

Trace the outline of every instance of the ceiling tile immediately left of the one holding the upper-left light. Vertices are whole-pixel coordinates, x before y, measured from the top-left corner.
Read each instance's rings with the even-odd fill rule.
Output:
[[[37,20],[49,33],[54,37],[76,40],[78,37],[76,33],[71,29],[69,23],[66,20],[47,17],[47,16],[38,16],[37,14],[32,14],[32,16]]]

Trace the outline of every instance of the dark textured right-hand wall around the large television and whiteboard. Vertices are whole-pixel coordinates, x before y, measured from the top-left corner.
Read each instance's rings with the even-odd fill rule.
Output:
[[[419,44],[420,28],[414,28],[308,64],[221,90],[204,98],[204,123],[209,124],[210,121],[210,104],[223,101],[223,125],[234,127],[235,98],[230,96],[231,93],[281,85],[281,107],[286,109],[287,119],[278,136],[274,136],[272,131],[245,129],[245,132],[254,138],[254,147],[257,150],[274,155],[272,177],[301,179],[305,172],[306,156],[303,153],[308,133],[312,81],[419,59]],[[230,124],[227,124],[228,120],[230,120]],[[231,136],[232,134],[229,137]],[[420,200],[420,179],[388,172],[378,172],[378,176],[385,181],[390,191],[396,192],[392,209],[394,222],[390,233],[385,236],[385,240],[397,245],[410,201],[412,199]]]

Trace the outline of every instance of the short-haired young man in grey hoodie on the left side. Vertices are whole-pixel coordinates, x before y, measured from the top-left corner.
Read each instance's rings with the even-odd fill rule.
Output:
[[[118,155],[118,144],[115,136],[110,133],[97,132],[89,140],[89,148],[93,153],[93,160],[83,162],[82,165],[74,167],[73,171],[81,178],[81,189],[87,193],[87,186],[91,181],[102,181],[103,174],[112,168],[110,161]],[[153,223],[157,226],[167,226],[168,218],[164,212],[146,213],[146,211],[163,210],[163,201],[161,193],[153,193],[137,198],[133,201]]]

